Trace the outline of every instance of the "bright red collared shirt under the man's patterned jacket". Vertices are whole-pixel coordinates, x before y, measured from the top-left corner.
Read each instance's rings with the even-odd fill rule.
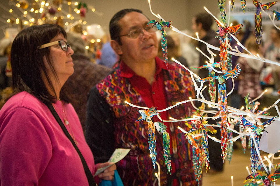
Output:
[[[120,62],[120,76],[128,79],[130,84],[141,95],[147,107],[151,108],[154,106],[157,107],[157,110],[161,110],[168,107],[162,71],[163,69],[167,70],[167,67],[158,57],[155,58],[155,62],[156,71],[152,85],[142,76],[135,74],[123,61]],[[171,65],[169,65],[169,68],[170,67]],[[168,119],[168,111],[160,112],[159,114],[162,119]],[[154,117],[153,120],[159,121],[157,117]]]

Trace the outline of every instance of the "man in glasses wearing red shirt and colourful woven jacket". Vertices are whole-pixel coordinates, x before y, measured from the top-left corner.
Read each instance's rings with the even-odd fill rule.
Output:
[[[164,123],[170,134],[171,175],[164,163],[162,135],[157,140],[155,169],[148,149],[148,124],[136,121],[138,110],[125,101],[142,106],[164,109],[194,96],[190,74],[181,66],[169,63],[168,68],[157,57],[156,29],[146,26],[149,19],[141,10],[124,9],[110,21],[111,46],[120,56],[119,64],[88,97],[85,137],[96,162],[108,161],[115,148],[129,148],[129,154],[117,163],[124,185],[197,185],[190,145],[177,126],[184,122]],[[167,41],[168,42],[168,41]],[[160,112],[169,120],[191,115],[190,104]],[[153,117],[153,121],[159,121]],[[159,175],[157,179],[155,173]]]

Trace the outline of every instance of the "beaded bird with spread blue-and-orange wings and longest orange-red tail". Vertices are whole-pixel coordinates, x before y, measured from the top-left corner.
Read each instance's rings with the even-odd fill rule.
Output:
[[[202,79],[197,79],[199,82],[206,82],[209,80],[218,79],[218,104],[219,104],[219,115],[221,117],[221,149],[223,160],[227,157],[227,92],[225,86],[225,80],[236,77],[241,71],[239,64],[235,66],[235,68],[231,71],[227,71],[223,75],[218,75],[214,77],[207,77]]]

